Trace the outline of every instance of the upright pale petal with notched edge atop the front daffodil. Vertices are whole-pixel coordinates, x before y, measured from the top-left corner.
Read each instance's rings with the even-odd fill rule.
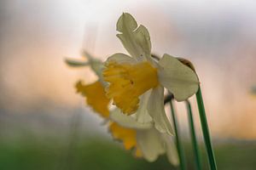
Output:
[[[137,60],[144,60],[150,55],[151,42],[146,27],[137,27],[136,20],[131,14],[123,13],[117,22],[117,34],[123,46],[131,56]]]

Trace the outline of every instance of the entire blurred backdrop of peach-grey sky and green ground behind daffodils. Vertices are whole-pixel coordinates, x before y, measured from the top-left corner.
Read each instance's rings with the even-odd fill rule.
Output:
[[[115,37],[122,12],[148,28],[154,54],[194,63],[219,169],[255,169],[255,8],[250,0],[1,1],[0,169],[172,168],[164,156],[152,164],[135,160],[111,141],[102,119],[73,88],[95,75],[63,62],[80,58],[82,48],[102,60],[126,53]],[[183,103],[177,111],[193,169]],[[197,114],[195,122],[201,140]],[[201,151],[206,163],[203,145]]]

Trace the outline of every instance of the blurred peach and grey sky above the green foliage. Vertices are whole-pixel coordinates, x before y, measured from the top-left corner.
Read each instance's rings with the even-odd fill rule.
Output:
[[[65,133],[77,110],[91,112],[73,85],[79,79],[93,82],[95,75],[88,68],[71,69],[63,59],[80,58],[82,48],[102,60],[126,53],[115,37],[115,24],[122,12],[129,12],[148,28],[154,54],[194,63],[213,137],[255,139],[256,96],[250,94],[256,84],[255,6],[238,0],[1,1],[3,136],[20,127]],[[187,131],[183,107],[177,104],[181,127]],[[198,116],[195,121],[200,133]],[[82,122],[86,131],[106,134],[97,116],[83,114]]]

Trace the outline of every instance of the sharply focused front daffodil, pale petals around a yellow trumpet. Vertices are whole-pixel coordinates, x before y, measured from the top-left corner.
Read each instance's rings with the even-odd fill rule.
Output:
[[[104,81],[107,96],[126,115],[137,122],[154,121],[160,133],[173,134],[164,109],[164,88],[177,101],[195,94],[199,80],[195,72],[178,59],[164,54],[159,62],[151,57],[151,42],[146,27],[137,26],[131,14],[122,14],[117,22],[119,40],[131,56],[113,54],[105,62]]]

